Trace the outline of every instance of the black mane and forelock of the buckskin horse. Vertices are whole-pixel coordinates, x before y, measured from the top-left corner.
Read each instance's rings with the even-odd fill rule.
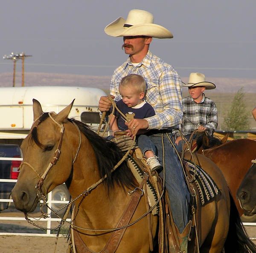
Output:
[[[31,137],[33,141],[35,141],[35,144],[37,144],[39,147],[42,147],[42,144],[38,140],[37,125],[44,121],[47,117],[49,117],[48,113],[45,112],[42,114],[38,119],[38,123],[36,123],[31,130]],[[128,168],[125,161],[122,162],[119,168],[111,173],[113,167],[122,159],[124,155],[124,152],[122,152],[114,142],[102,138],[81,121],[74,119],[68,119],[68,121],[76,123],[80,131],[85,135],[88,141],[90,141],[98,162],[99,175],[100,177],[107,175],[107,178],[103,182],[107,184],[108,189],[114,187],[115,184],[122,187],[126,186],[130,189],[136,187],[134,175]]]

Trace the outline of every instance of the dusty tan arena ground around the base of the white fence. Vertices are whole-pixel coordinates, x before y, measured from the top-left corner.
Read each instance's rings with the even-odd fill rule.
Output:
[[[20,216],[22,213],[14,213],[3,211],[0,213],[0,217],[8,216]],[[38,223],[37,223],[38,224]],[[41,224],[45,226],[46,223]],[[57,226],[57,223],[52,224]],[[67,231],[67,227],[63,228]],[[247,233],[250,237],[256,237],[256,226],[247,226]],[[27,221],[3,221],[0,220],[0,233],[45,233],[43,230],[38,229]],[[0,235],[0,252],[1,253],[66,253],[67,251],[67,239],[65,237],[59,237],[56,251],[55,251],[56,237],[45,236],[7,236]],[[256,243],[256,241],[253,241]]]

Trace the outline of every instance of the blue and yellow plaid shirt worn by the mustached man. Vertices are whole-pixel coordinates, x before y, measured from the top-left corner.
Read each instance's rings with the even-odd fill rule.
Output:
[[[110,94],[118,101],[122,99],[118,86],[123,77],[129,74],[143,76],[147,83],[144,97],[153,106],[156,115],[145,118],[148,129],[177,129],[183,117],[181,80],[175,69],[148,51],[141,63],[134,66],[130,57],[113,73]]]

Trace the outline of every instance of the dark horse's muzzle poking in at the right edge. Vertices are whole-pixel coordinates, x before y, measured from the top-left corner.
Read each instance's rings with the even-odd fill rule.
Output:
[[[247,216],[256,214],[256,160],[252,160],[253,164],[247,171],[239,189],[237,191],[237,198],[240,201],[241,207]]]

